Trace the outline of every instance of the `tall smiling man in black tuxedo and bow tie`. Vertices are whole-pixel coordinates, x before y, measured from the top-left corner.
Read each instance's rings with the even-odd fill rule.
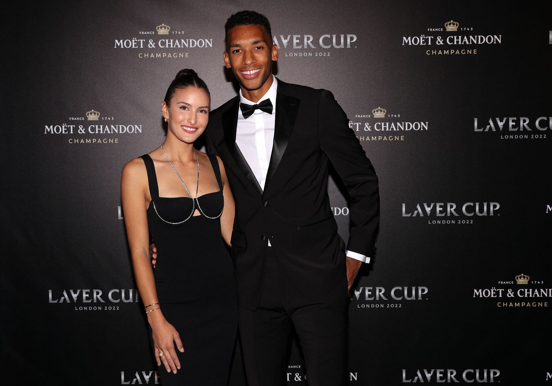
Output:
[[[248,384],[284,384],[294,327],[309,385],[342,385],[348,291],[373,251],[378,179],[330,92],[273,77],[278,47],[264,15],[238,12],[225,29],[224,62],[240,95],[211,112],[206,142],[236,201],[232,259]],[[326,189],[330,163],[349,196],[347,251]]]

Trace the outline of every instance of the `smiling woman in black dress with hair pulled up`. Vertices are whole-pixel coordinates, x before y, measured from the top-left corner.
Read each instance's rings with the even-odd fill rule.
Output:
[[[209,104],[197,73],[180,71],[161,104],[165,141],[128,162],[121,177],[134,275],[165,386],[226,385],[236,338],[235,280],[224,245],[234,201],[220,158],[194,149]],[[151,238],[163,255],[155,277]]]

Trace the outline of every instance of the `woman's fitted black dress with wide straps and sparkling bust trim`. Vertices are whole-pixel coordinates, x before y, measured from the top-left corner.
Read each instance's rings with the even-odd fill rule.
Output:
[[[163,364],[158,368],[164,386],[226,385],[236,339],[232,260],[221,236],[220,217],[208,218],[219,216],[224,206],[222,180],[216,157],[208,156],[220,191],[198,197],[201,215],[184,222],[193,199],[159,197],[153,160],[142,156],[151,194],[147,223],[159,255],[157,296],[184,346],[184,352],[175,349],[181,364],[176,374],[167,373]]]

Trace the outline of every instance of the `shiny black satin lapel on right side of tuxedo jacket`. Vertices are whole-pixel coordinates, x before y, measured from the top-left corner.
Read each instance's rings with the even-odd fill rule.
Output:
[[[289,138],[291,137],[291,132],[293,132],[293,126],[297,118],[297,111],[299,110],[299,101],[299,99],[293,98],[293,96],[276,94],[274,144],[268,164],[267,179],[264,182],[264,190],[267,190],[270,180],[272,180],[284,156],[285,148],[288,147]]]

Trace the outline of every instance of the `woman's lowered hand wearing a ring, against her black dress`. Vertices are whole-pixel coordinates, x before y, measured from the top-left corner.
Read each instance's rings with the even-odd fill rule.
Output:
[[[161,366],[161,362],[163,362],[168,373],[172,370],[172,372],[176,374],[177,369],[180,369],[180,361],[174,350],[174,343],[176,343],[180,352],[184,352],[184,347],[182,346],[178,331],[164,318],[155,323],[150,322],[150,325],[157,366]],[[162,357],[159,356],[160,353],[163,353]]]

